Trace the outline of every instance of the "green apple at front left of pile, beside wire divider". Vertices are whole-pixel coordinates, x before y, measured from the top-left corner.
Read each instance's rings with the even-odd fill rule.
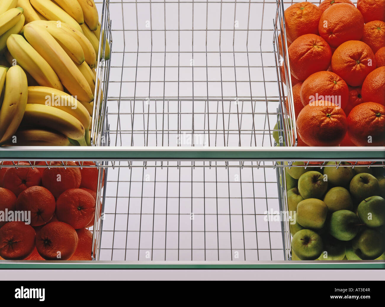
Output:
[[[293,236],[291,248],[301,260],[315,260],[323,251],[322,238],[310,229],[302,229]]]

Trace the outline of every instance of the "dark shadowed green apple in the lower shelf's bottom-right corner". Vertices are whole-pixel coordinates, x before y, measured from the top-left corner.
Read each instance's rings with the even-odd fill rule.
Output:
[[[365,229],[352,241],[354,253],[363,260],[374,260],[385,252],[383,236],[375,229]]]

